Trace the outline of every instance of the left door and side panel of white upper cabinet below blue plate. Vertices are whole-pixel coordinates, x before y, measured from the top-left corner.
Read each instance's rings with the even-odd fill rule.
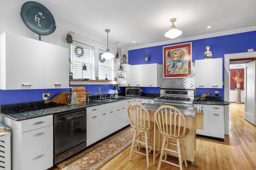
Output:
[[[1,53],[1,58],[6,58],[6,63],[1,59],[1,89],[43,89],[43,42],[11,33],[5,35],[1,35],[1,39],[6,38],[5,56]]]

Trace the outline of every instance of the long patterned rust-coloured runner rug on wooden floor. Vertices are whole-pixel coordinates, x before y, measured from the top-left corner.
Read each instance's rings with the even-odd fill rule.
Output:
[[[128,127],[108,139],[57,164],[59,170],[97,170],[132,143],[134,129]]]

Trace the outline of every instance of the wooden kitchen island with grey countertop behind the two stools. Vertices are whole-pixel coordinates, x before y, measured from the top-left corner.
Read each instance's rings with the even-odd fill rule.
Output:
[[[154,120],[155,111],[162,106],[162,104],[142,104],[148,109],[150,112],[150,120]],[[185,147],[187,160],[191,162],[192,165],[195,164],[195,150],[196,150],[196,108],[194,107],[186,107],[186,106],[174,106],[182,113],[184,113],[186,118],[186,125],[189,129],[189,133],[186,137],[183,138],[183,143]],[[154,145],[154,165],[155,160],[158,155],[160,155],[160,150],[162,146],[162,141],[164,136],[158,132],[156,127],[156,123],[154,122],[154,129],[150,132],[150,134],[154,134],[154,138],[150,139],[150,145]]]

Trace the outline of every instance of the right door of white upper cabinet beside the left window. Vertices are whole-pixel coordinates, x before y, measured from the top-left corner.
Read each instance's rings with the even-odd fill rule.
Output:
[[[69,88],[68,49],[44,43],[44,88]]]

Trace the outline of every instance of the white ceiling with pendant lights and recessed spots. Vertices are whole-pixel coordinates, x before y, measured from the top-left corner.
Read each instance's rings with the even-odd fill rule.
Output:
[[[165,41],[200,39],[198,37],[210,37],[220,33],[230,34],[230,30],[234,30],[232,31],[234,33],[256,30],[256,0],[39,0],[39,2],[46,6],[54,17],[66,20],[96,35],[106,37],[104,30],[110,29],[109,40],[128,48]],[[177,18],[174,25],[182,31],[182,35],[176,39],[164,37],[164,33],[171,27],[170,18]],[[206,28],[208,25],[212,27]]]

